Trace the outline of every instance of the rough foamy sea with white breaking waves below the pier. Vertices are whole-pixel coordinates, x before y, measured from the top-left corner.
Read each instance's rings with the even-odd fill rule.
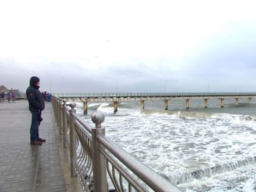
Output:
[[[256,99],[77,102],[105,115],[106,136],[183,191],[256,191]]]

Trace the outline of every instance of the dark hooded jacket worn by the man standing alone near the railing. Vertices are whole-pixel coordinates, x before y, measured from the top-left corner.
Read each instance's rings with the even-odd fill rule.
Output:
[[[40,79],[38,77],[31,77],[30,86],[26,90],[27,101],[29,101],[29,110],[31,112],[41,112],[44,110],[44,98],[41,92],[39,91],[39,86],[37,82]]]

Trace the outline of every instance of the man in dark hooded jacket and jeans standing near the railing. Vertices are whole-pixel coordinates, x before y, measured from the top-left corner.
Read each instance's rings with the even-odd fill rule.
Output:
[[[30,86],[26,90],[27,101],[29,101],[29,110],[32,114],[30,127],[30,144],[40,145],[46,140],[39,137],[38,127],[41,118],[41,111],[44,110],[44,98],[39,91],[40,79],[38,77],[30,78]]]

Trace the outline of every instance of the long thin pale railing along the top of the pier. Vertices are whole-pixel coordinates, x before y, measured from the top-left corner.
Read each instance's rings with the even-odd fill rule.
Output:
[[[113,97],[184,97],[184,96],[256,96],[255,92],[207,93],[55,93],[59,98],[113,98]]]

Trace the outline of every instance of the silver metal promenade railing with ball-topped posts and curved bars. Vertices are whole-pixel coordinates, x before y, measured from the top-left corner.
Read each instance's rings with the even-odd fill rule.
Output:
[[[84,191],[181,191],[105,137],[102,112],[93,113],[91,127],[75,107],[52,96],[63,147],[69,149],[71,176],[79,177]]]

